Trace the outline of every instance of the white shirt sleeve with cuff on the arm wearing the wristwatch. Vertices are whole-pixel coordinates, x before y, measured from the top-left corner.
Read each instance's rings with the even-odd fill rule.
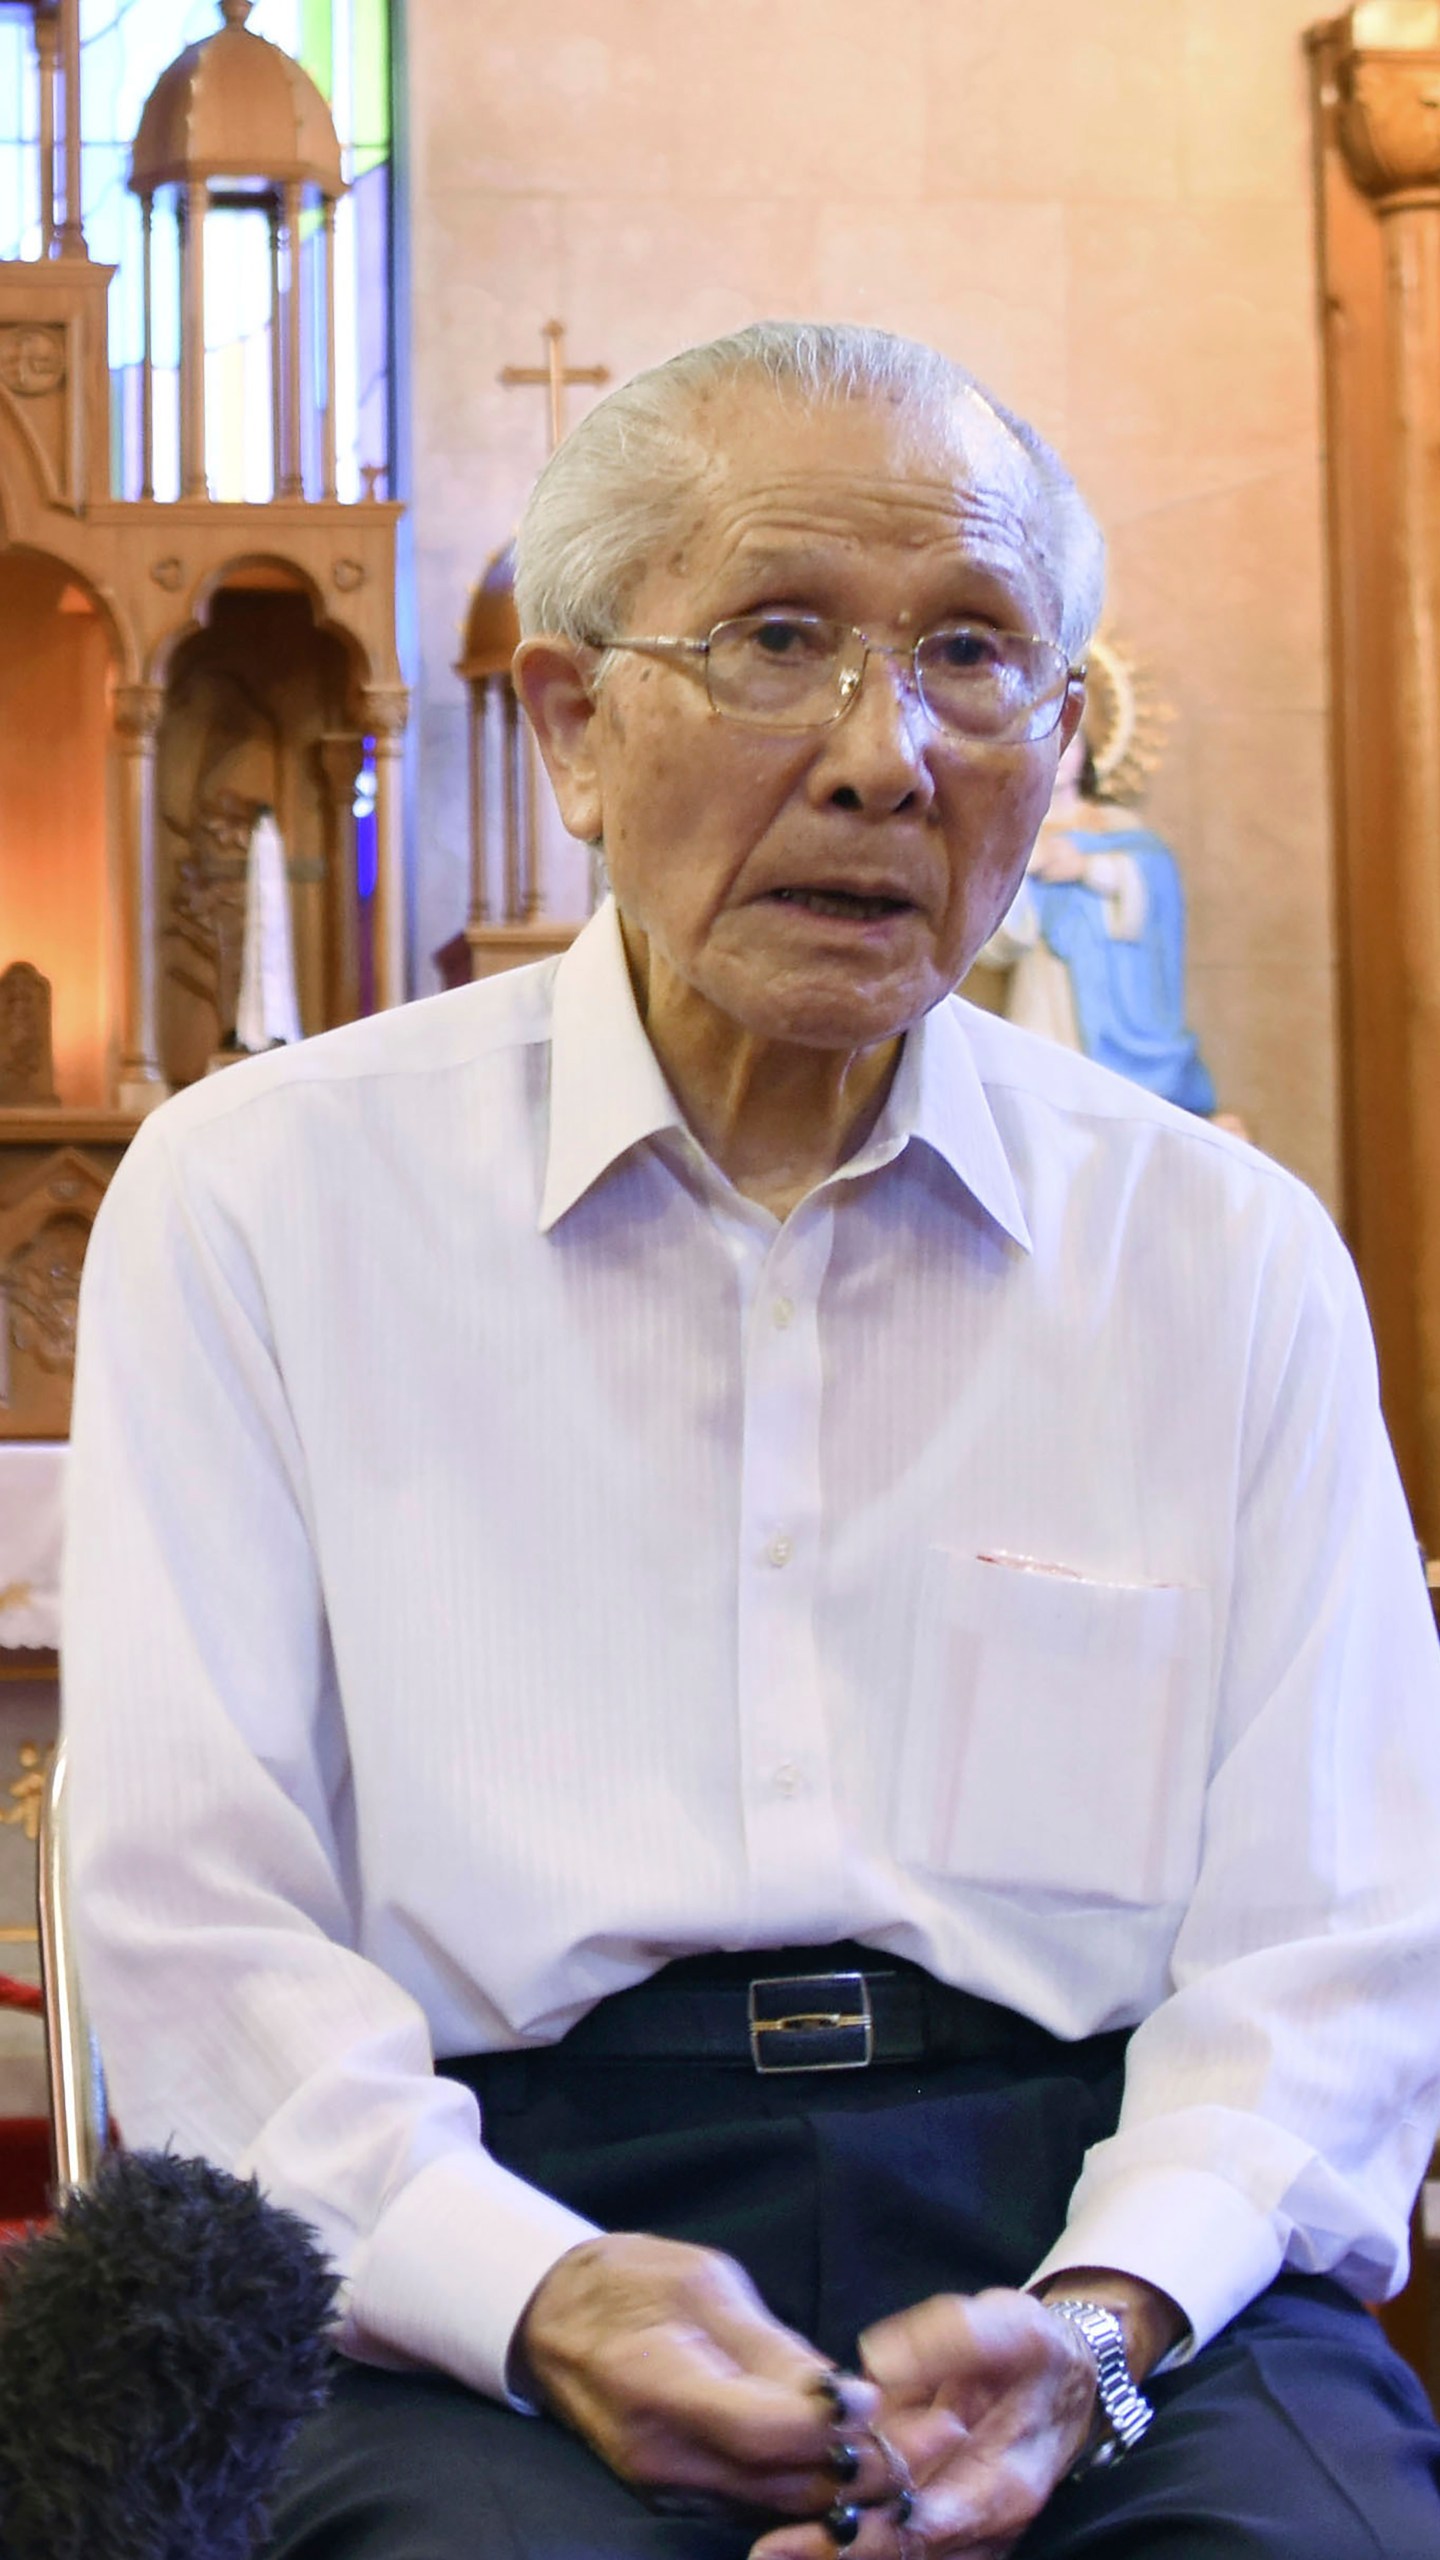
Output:
[[[1281,2268],[1391,2294],[1440,2112],[1435,1631],[1361,1293],[1307,1224],[1256,1357],[1171,1994],[1043,2268],[1145,2276],[1197,2342]]]

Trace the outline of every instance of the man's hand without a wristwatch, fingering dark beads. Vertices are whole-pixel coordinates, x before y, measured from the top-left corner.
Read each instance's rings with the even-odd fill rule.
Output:
[[[717,2250],[643,2232],[582,2240],[536,2289],[515,2345],[518,2388],[641,2491],[781,2516],[820,2516],[840,2496],[825,2468],[835,2412],[817,2388],[830,2365]],[[863,2429],[879,2388],[843,2388]],[[884,2465],[866,2447],[843,2496],[881,2493]],[[820,2532],[815,2547],[833,2560]]]

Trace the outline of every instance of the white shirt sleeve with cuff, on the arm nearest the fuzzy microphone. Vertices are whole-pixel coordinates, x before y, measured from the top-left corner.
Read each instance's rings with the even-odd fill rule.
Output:
[[[85,1272],[64,1723],[126,2135],[254,2171],[305,2214],[346,2276],[346,2348],[502,2394],[515,2319],[587,2225],[489,2158],[425,2015],[356,1953],[305,1454],[249,1249],[177,1185],[156,1124]]]

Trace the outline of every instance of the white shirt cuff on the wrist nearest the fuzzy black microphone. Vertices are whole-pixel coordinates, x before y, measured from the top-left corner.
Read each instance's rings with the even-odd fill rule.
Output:
[[[528,2186],[487,2150],[430,2161],[384,2209],[356,2255],[336,2345],[454,2373],[489,2399],[536,2286],[594,2222]]]

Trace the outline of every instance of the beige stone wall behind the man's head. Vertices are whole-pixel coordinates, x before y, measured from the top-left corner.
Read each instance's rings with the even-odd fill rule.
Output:
[[[1191,1014],[1335,1201],[1314,0],[410,0],[420,937],[464,916],[456,620],[543,458],[497,384],[758,312],[948,348],[1056,438],[1176,722]],[[592,394],[574,394],[579,399]]]

